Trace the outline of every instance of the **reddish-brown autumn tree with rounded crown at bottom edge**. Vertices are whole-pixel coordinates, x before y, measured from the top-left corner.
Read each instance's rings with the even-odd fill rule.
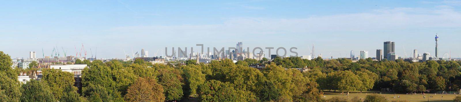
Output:
[[[127,102],[163,102],[165,96],[163,94],[162,85],[157,83],[154,78],[138,78],[132,84],[125,95]]]

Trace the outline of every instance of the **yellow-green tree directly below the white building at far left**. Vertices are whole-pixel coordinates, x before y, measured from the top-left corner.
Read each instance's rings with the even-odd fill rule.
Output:
[[[45,68],[42,70],[44,83],[49,85],[55,99],[60,100],[66,86],[74,85],[74,74],[60,69]]]

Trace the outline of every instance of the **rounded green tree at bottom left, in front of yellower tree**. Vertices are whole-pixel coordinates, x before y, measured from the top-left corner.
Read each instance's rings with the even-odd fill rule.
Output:
[[[21,91],[21,102],[56,102],[49,87],[37,80],[22,85]]]

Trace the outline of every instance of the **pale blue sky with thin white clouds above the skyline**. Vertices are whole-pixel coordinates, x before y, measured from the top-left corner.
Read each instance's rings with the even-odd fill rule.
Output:
[[[243,42],[250,50],[297,47],[298,56],[314,45],[315,55],[336,58],[375,57],[394,41],[396,54],[410,57],[413,49],[435,54],[438,34],[439,56],[460,57],[460,7],[461,0],[11,0],[0,3],[0,51],[41,58],[57,46],[75,56],[83,44],[87,57],[123,58],[142,48],[164,56],[165,47]]]

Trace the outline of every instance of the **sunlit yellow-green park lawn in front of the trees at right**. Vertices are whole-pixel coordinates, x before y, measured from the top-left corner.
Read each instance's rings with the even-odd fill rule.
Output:
[[[379,91],[363,91],[362,93],[360,92],[349,92],[349,96],[346,96],[346,92],[344,94],[341,94],[341,92],[329,92],[329,91],[324,91],[324,96],[323,98],[325,99],[330,99],[331,97],[339,96],[339,97],[349,97],[349,99],[352,99],[355,96],[361,97],[362,99],[365,99],[366,95],[372,94],[372,93],[378,93]],[[414,95],[407,95],[407,94],[395,94],[395,96],[400,96],[400,98],[393,98],[394,93],[384,93],[382,92],[381,95],[386,96],[389,101],[397,101],[397,100],[406,100],[410,102],[427,102],[427,99],[429,96],[429,102],[453,102],[453,98],[455,98],[455,94],[425,94],[426,98],[423,97],[421,94],[414,94]],[[443,96],[443,98],[442,98]],[[460,95],[461,96],[461,95]]]

